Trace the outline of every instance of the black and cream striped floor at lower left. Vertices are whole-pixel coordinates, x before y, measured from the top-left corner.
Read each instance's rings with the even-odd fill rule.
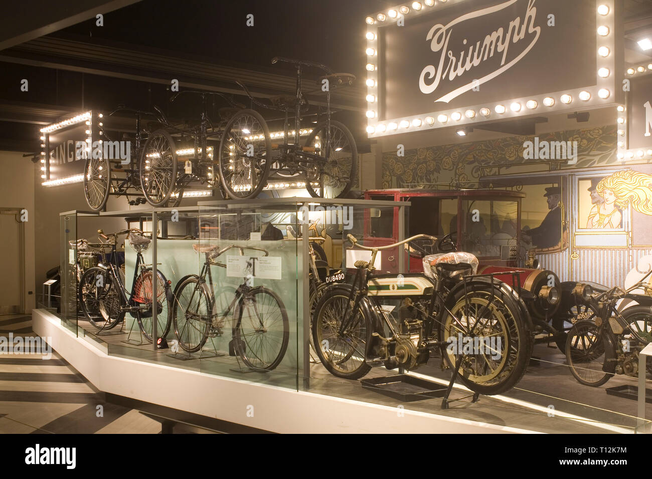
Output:
[[[31,316],[0,316],[0,337],[36,336]],[[7,341],[7,339],[5,339]],[[102,395],[55,351],[0,354],[0,433],[160,433],[160,423]]]

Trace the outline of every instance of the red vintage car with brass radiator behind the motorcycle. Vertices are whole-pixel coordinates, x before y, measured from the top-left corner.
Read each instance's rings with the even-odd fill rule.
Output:
[[[581,317],[585,306],[576,288],[585,285],[561,283],[554,271],[539,268],[535,250],[522,232],[521,201],[525,196],[516,190],[487,188],[368,190],[365,199],[409,201],[411,206],[406,218],[398,217],[397,207],[366,212],[364,244],[381,246],[402,239],[398,237],[401,222],[406,237],[420,233],[437,238],[451,235],[458,251],[477,256],[479,274],[520,272],[497,277],[524,290],[537,342],[554,342],[565,351],[566,332]],[[403,263],[405,272],[422,272],[422,256],[437,253],[436,245],[416,243],[409,244],[402,261],[398,250],[389,250],[381,257],[380,269],[398,272],[399,263]],[[600,289],[600,285],[592,286]]]

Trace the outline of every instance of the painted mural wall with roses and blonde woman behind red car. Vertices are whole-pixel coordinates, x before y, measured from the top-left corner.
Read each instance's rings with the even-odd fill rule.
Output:
[[[576,145],[576,156],[532,154],[552,142]],[[604,126],[385,152],[383,188],[515,188],[526,194],[522,248],[542,267],[561,281],[625,286],[649,271],[652,164],[622,164],[616,142],[616,127]]]

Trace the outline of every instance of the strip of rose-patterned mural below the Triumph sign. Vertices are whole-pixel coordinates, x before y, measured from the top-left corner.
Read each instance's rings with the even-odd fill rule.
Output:
[[[539,135],[539,141],[577,141],[578,161],[559,168],[590,168],[615,164],[616,127],[604,126],[585,130],[568,130]],[[509,167],[542,160],[523,158],[523,143],[533,136],[511,136],[458,145],[441,145],[406,150],[405,156],[383,153],[383,188],[432,188],[437,184],[477,182],[492,167],[500,166],[501,174]],[[556,161],[556,160],[553,160]]]

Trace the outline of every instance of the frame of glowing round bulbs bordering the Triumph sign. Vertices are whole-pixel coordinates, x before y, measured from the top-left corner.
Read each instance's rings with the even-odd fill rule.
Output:
[[[378,29],[392,25],[400,16],[406,20],[429,14],[437,8],[469,0],[421,0],[398,5],[377,12],[365,19],[367,72],[367,127],[368,138],[432,130],[449,126],[473,127],[473,124],[495,119],[520,118],[548,112],[561,113],[600,108],[616,104],[618,95],[615,75],[615,13],[614,0],[595,0],[596,24],[596,83],[595,85],[557,91],[537,96],[507,98],[505,100],[469,106],[463,109],[445,109],[422,115],[378,121]]]

